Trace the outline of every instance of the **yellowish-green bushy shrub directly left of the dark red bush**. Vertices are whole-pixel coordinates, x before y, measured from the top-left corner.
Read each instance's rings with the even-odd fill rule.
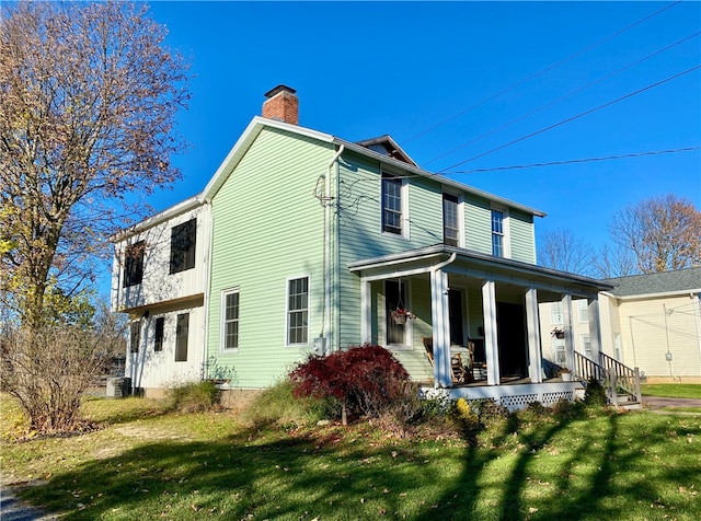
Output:
[[[302,427],[329,416],[333,398],[292,396],[292,383],[284,380],[258,394],[241,413],[241,420],[254,428],[265,426]]]

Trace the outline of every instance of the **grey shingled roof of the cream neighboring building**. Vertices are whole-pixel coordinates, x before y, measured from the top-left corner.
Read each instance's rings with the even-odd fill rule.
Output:
[[[701,267],[605,279],[616,297],[701,292]]]

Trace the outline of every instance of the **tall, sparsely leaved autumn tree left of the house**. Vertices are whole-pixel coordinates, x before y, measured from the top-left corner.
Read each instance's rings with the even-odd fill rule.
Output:
[[[172,183],[188,99],[182,58],[147,8],[12,2],[0,19],[0,296],[39,329],[106,236]]]

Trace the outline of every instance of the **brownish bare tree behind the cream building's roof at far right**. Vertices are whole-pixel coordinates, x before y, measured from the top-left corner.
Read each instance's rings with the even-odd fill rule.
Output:
[[[619,210],[609,227],[616,244],[648,274],[701,265],[701,212],[674,194]]]

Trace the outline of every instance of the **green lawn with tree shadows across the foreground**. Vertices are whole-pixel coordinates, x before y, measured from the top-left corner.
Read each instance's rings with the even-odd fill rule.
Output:
[[[33,482],[23,499],[66,520],[701,519],[700,416],[525,412],[475,445],[367,424],[246,428],[138,398],[85,414],[106,428],[0,454],[3,474]]]

